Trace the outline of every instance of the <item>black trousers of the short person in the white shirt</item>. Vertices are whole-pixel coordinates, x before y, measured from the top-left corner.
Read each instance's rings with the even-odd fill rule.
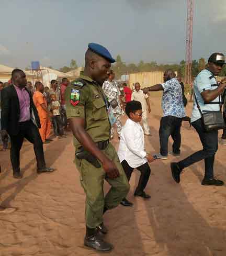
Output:
[[[131,177],[131,174],[132,174],[134,168],[132,168],[127,163],[126,160],[123,160],[121,162],[121,165],[122,165],[122,167],[123,167],[123,169],[126,173],[128,181],[130,181],[130,177]],[[136,169],[138,169],[141,172],[141,175],[140,175],[138,186],[137,186],[135,192],[142,192],[144,190],[144,188],[146,187],[146,184],[148,183],[148,180],[149,180],[149,177],[150,177],[150,174],[151,174],[151,169],[150,169],[149,164],[147,162],[140,165]]]

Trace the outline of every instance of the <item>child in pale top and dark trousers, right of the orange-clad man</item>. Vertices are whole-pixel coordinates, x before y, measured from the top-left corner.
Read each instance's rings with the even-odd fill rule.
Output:
[[[64,129],[63,129],[63,122],[60,116],[60,102],[57,101],[57,97],[55,94],[50,95],[50,105],[49,105],[50,111],[52,113],[52,119],[53,119],[53,128],[54,128],[54,134],[57,138],[59,136],[62,138],[65,138],[64,136]]]

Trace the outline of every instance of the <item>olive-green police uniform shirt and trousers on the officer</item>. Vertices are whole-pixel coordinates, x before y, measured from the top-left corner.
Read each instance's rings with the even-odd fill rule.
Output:
[[[84,129],[94,142],[109,139],[110,123],[104,93],[94,80],[84,76],[81,72],[80,77],[67,86],[65,100],[67,118],[84,118]],[[81,146],[75,137],[74,146],[76,151]],[[129,191],[129,183],[115,148],[109,143],[103,152],[116,164],[120,173],[117,179],[106,177],[102,165],[101,168],[95,168],[85,159],[78,160],[75,157],[75,164],[80,172],[81,184],[86,193],[85,219],[88,228],[98,227],[103,222],[104,207],[107,209],[115,208]],[[111,188],[104,197],[103,185],[105,179],[111,185]]]

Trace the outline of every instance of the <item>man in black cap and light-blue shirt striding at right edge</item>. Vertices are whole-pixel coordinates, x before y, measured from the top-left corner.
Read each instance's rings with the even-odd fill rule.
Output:
[[[226,80],[224,79],[218,84],[214,75],[219,75],[224,64],[224,55],[213,53],[208,60],[208,68],[202,70],[194,81],[194,93],[202,113],[220,110],[220,94],[226,86]],[[196,102],[194,102],[191,115],[191,125],[198,132],[203,149],[178,163],[171,163],[173,179],[179,183],[180,173],[184,168],[205,159],[205,176],[201,184],[222,186],[224,182],[215,179],[213,176],[214,156],[218,150],[218,130],[206,131],[204,129]]]

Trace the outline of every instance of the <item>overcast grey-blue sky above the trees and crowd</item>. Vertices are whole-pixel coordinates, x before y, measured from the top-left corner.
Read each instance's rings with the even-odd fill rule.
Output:
[[[0,0],[0,64],[84,64],[89,42],[126,63],[185,58],[186,0]],[[226,51],[225,0],[195,0],[193,59]]]

